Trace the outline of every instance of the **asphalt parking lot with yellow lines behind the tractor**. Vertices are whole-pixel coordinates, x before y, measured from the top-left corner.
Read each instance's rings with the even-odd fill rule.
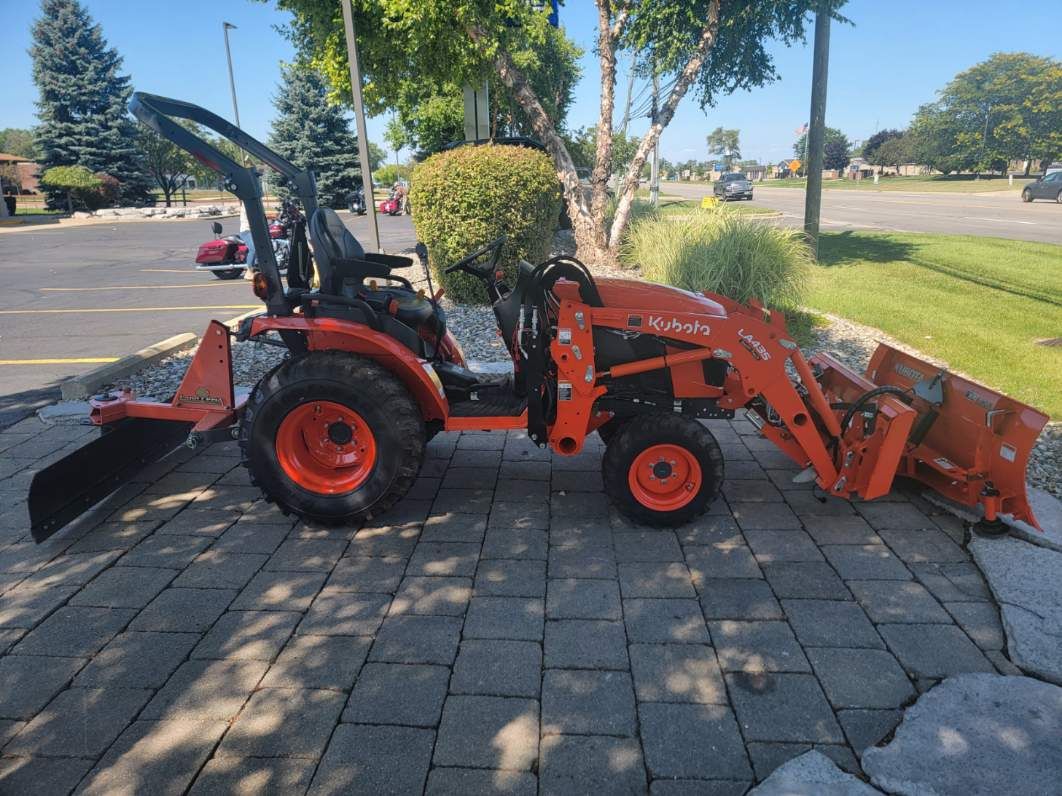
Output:
[[[369,241],[367,218],[340,217]],[[235,231],[236,219],[222,224]],[[379,225],[387,250],[412,240],[408,217]],[[53,399],[64,379],[260,307],[249,282],[193,271],[210,237],[202,220],[0,231],[0,428]]]

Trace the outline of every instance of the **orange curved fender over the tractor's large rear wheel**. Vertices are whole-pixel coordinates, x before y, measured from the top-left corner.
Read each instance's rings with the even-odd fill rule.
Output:
[[[414,356],[394,338],[364,324],[295,315],[255,317],[250,336],[267,331],[302,332],[311,351],[349,351],[375,360],[406,385],[421,406],[425,420],[445,420],[449,414],[442,382],[431,364]]]

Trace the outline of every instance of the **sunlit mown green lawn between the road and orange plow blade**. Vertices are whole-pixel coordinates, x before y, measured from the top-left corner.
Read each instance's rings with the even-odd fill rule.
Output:
[[[874,326],[1062,418],[1062,246],[827,232],[807,305]]]

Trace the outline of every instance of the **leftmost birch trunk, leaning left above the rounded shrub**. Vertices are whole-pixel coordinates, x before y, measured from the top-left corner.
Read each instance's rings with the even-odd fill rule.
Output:
[[[468,31],[468,35],[476,42],[482,39],[482,33],[475,28]],[[586,203],[583,187],[579,181],[579,175],[576,173],[576,165],[572,162],[568,148],[564,145],[552,120],[542,107],[542,103],[538,102],[538,98],[535,97],[534,89],[531,88],[527,77],[513,64],[507,52],[498,51],[494,57],[494,68],[501,82],[509,87],[513,97],[516,98],[516,102],[528,115],[531,128],[542,139],[547,152],[553,158],[556,177],[564,191],[568,218],[571,219],[571,232],[576,238],[576,248],[580,259],[587,262],[606,262],[609,249],[599,242],[603,236],[595,233],[594,219],[590,215],[590,208]]]

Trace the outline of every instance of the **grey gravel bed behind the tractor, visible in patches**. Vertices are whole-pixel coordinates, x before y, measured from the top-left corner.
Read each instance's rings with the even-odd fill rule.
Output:
[[[552,254],[571,254],[575,250],[575,241],[569,231],[558,232],[553,243]],[[427,289],[421,269],[413,266],[410,272],[408,277],[413,287]],[[637,272],[628,269],[594,266],[594,273],[603,277],[640,279]],[[445,296],[442,305],[446,311],[447,327],[460,341],[468,361],[498,363],[509,360],[509,353],[497,334],[491,308],[455,304]],[[829,351],[852,369],[862,373],[877,344],[883,342],[933,364],[947,366],[946,363],[890,338],[879,329],[818,311],[816,314],[824,317],[827,324],[812,330],[812,341],[804,348],[807,357],[819,351]],[[181,383],[193,353],[194,349],[182,351],[134,374],[115,386],[130,386],[137,395],[168,399]],[[285,356],[285,350],[276,346],[252,342],[234,343],[233,373],[237,386],[254,386]],[[1028,482],[1062,499],[1062,422],[1048,423],[1033,446],[1029,457]]]

